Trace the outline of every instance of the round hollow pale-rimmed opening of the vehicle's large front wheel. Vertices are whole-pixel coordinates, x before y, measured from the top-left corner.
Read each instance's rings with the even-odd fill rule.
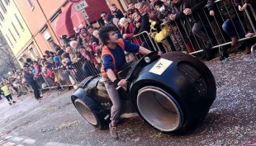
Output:
[[[137,107],[141,117],[156,130],[166,133],[183,129],[183,110],[168,92],[154,86],[140,88]]]

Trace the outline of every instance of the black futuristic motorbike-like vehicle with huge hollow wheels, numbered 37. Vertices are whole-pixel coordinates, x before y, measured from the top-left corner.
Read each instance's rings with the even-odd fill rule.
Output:
[[[210,69],[180,52],[152,52],[125,64],[117,78],[128,82],[126,88],[117,89],[121,114],[137,112],[162,132],[186,130],[203,120],[216,99],[216,82]],[[101,75],[83,80],[71,100],[88,123],[97,129],[108,127],[112,104]]]

